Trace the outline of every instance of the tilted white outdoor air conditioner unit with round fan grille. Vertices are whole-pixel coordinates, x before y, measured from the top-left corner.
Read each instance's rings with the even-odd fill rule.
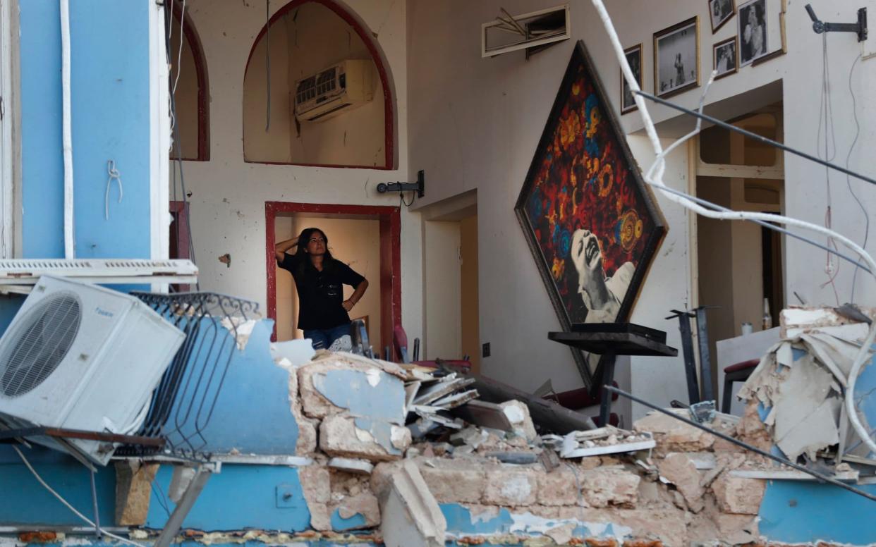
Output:
[[[45,276],[0,338],[0,420],[133,434],[185,334],[138,298]],[[106,465],[115,446],[83,439],[32,441]]]

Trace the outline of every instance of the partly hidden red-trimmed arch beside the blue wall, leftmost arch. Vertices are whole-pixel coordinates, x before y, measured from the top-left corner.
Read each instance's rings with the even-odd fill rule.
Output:
[[[179,155],[181,159],[208,161],[210,147],[207,61],[188,11],[182,12],[180,2],[171,4],[172,16],[167,28],[170,37],[170,87],[176,107],[173,138],[179,139],[179,148],[174,143],[170,156],[173,159]]]

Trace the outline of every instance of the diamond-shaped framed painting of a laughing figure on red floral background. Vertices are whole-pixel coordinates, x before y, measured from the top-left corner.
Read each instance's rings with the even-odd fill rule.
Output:
[[[565,330],[624,322],[666,221],[578,41],[514,207]],[[573,351],[584,381],[590,366]]]

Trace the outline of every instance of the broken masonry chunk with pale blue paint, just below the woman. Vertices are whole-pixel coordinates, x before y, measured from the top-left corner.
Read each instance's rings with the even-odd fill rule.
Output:
[[[387,372],[379,361],[331,354],[298,368],[298,384],[301,406],[308,417],[324,418],[350,410],[354,416],[404,424],[405,382]]]

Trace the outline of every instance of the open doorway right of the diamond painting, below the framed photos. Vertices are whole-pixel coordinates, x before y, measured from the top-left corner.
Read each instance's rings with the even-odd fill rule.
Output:
[[[782,141],[781,103],[731,123]],[[697,197],[736,211],[783,212],[781,151],[718,127],[703,130],[696,149]],[[733,344],[718,349],[717,342],[738,339],[744,324],[750,324],[754,334],[778,325],[786,299],[782,248],[781,234],[753,222],[696,219],[698,301],[717,306],[708,312],[713,393],[722,393],[724,367],[752,358],[746,356],[745,347],[760,354],[759,342],[753,338],[739,339],[736,345],[741,349],[734,352],[726,349]],[[765,325],[765,305],[770,326]]]

